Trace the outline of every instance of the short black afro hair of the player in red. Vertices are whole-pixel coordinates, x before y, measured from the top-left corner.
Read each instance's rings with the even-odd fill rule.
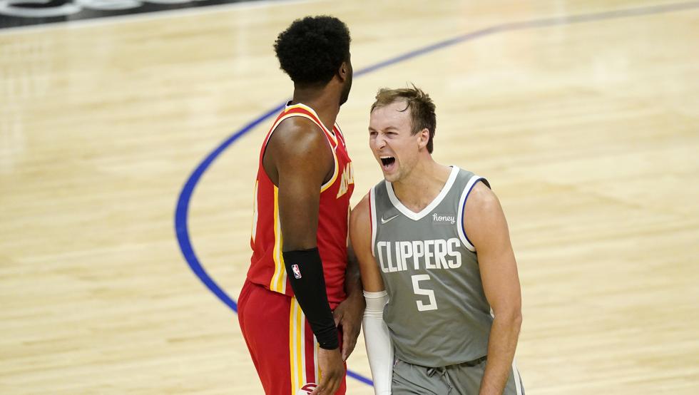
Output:
[[[350,29],[334,16],[295,20],[275,41],[282,70],[299,85],[325,84],[350,60]]]

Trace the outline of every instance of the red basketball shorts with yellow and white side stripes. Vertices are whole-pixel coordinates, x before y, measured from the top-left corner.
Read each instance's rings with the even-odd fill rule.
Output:
[[[310,394],[315,389],[318,343],[295,297],[246,280],[238,298],[238,322],[265,394]],[[335,394],[345,391],[343,379]]]

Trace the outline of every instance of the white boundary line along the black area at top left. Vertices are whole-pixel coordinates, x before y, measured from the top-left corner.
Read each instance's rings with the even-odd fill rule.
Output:
[[[149,19],[165,19],[170,17],[182,17],[182,16],[194,16],[202,14],[211,14],[218,11],[228,11],[231,9],[256,9],[256,8],[266,8],[270,6],[287,6],[302,3],[312,3],[318,0],[253,0],[253,1],[239,1],[237,3],[229,4],[215,4],[211,6],[196,6],[188,7],[183,9],[170,9],[164,11],[149,11],[141,12],[135,14],[126,15],[115,15],[115,16],[101,16],[98,18],[90,19],[77,19],[75,21],[57,21],[50,22],[48,24],[36,24],[29,26],[16,26],[9,28],[1,28],[0,36],[9,36],[11,34],[36,32],[36,31],[46,31],[46,30],[58,30],[58,29],[80,29],[83,27],[108,25],[108,24],[119,24],[122,22],[131,21],[148,21]],[[320,12],[322,14],[322,12]]]

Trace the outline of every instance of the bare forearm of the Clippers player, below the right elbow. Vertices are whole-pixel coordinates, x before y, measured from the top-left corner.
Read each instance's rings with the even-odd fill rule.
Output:
[[[496,315],[490,329],[486,371],[481,380],[480,395],[500,395],[512,371],[517,348],[521,314]]]

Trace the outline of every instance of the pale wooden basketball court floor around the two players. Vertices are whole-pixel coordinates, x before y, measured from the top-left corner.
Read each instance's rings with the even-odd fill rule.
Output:
[[[430,93],[434,156],[491,181],[527,393],[699,393],[699,2],[596,0],[262,3],[0,31],[0,394],[262,393],[220,297],[245,278],[270,119],[222,144],[290,95],[271,45],[307,14],[352,31],[353,202],[381,177],[367,123],[382,86]],[[361,337],[348,366],[369,376]]]

